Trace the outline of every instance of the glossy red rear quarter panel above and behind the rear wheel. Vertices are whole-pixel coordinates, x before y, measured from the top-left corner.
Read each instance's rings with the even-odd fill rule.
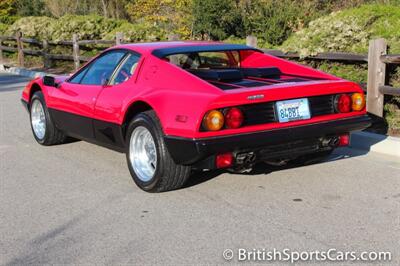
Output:
[[[165,134],[184,137],[194,137],[205,108],[223,95],[206,81],[152,55],[145,57],[137,79],[127,86],[129,95],[123,100],[119,124],[131,104],[143,101],[156,112]]]

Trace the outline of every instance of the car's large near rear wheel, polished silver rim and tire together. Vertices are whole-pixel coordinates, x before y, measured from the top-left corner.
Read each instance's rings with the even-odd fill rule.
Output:
[[[184,185],[190,167],[178,165],[171,158],[154,111],[141,113],[130,122],[126,140],[129,171],[141,189],[163,192]]]

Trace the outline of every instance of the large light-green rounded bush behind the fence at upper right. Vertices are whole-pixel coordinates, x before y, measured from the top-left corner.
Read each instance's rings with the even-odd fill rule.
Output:
[[[282,48],[303,57],[328,51],[365,53],[370,39],[382,37],[389,41],[393,52],[398,52],[399,28],[400,6],[364,5],[310,22],[285,41]]]

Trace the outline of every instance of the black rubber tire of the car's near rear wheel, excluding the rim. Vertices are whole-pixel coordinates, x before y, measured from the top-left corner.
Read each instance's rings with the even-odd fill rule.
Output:
[[[152,178],[142,181],[133,169],[130,159],[130,141],[135,128],[143,126],[151,134],[154,140],[157,163]],[[126,159],[129,172],[135,183],[147,192],[164,192],[181,188],[191,173],[190,166],[179,165],[174,162],[164,143],[163,131],[160,121],[154,111],[146,111],[138,114],[129,123],[126,133]]]

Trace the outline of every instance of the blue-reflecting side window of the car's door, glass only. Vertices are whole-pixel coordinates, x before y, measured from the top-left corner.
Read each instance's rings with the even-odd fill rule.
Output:
[[[89,66],[80,83],[86,85],[104,84],[110,79],[115,67],[124,55],[125,52],[123,51],[113,51],[99,57]]]

